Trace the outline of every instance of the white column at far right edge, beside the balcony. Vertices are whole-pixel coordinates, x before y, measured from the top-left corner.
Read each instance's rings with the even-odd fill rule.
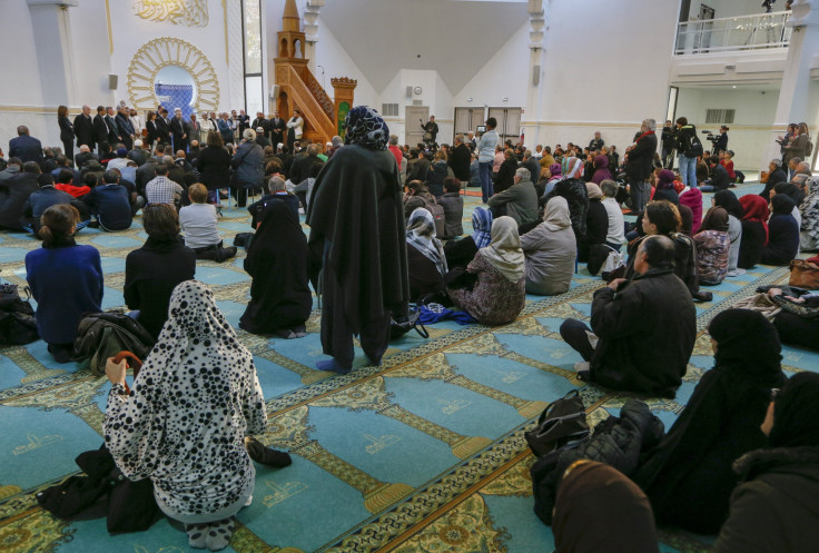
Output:
[[[813,55],[819,51],[819,7],[817,0],[797,0],[792,4],[792,16],[786,23],[793,28],[785,62],[782,87],[779,90],[777,115],[773,119],[768,155],[760,159],[760,168],[768,170],[768,161],[781,157],[778,136],[785,135],[789,122],[806,121],[811,128],[813,144],[817,142],[816,121],[810,112],[810,68]],[[816,157],[816,154],[813,155]]]

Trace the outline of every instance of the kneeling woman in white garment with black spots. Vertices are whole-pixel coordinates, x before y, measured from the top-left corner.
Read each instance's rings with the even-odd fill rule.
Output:
[[[125,387],[125,361],[108,359],[106,446],[131,480],[150,478],[159,508],[185,524],[194,549],[227,547],[234,515],[253,497],[245,436],[265,431],[253,355],[197,280],[174,288],[157,345]]]

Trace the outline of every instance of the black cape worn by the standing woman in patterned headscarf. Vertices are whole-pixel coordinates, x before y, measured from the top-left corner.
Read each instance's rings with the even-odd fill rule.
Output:
[[[346,324],[361,332],[385,310],[404,313],[410,300],[404,205],[395,156],[347,145],[316,179],[307,211],[310,251],[336,275]]]

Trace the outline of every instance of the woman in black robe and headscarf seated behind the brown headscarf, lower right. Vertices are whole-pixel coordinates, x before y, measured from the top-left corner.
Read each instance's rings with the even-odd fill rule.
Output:
[[[714,367],[660,445],[645,454],[634,482],[651,500],[658,523],[716,534],[738,482],[731,463],[764,447],[759,425],[770,389],[786,377],[779,336],[760,313],[728,309],[708,329]]]

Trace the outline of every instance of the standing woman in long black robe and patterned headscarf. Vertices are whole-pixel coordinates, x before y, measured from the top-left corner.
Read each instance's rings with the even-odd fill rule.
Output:
[[[389,319],[406,315],[410,277],[404,205],[389,129],[373,109],[347,115],[345,146],[313,187],[307,225],[312,260],[320,260],[322,346],[333,359],[322,371],[348,373],[353,336],[369,363],[379,365],[389,340]]]

